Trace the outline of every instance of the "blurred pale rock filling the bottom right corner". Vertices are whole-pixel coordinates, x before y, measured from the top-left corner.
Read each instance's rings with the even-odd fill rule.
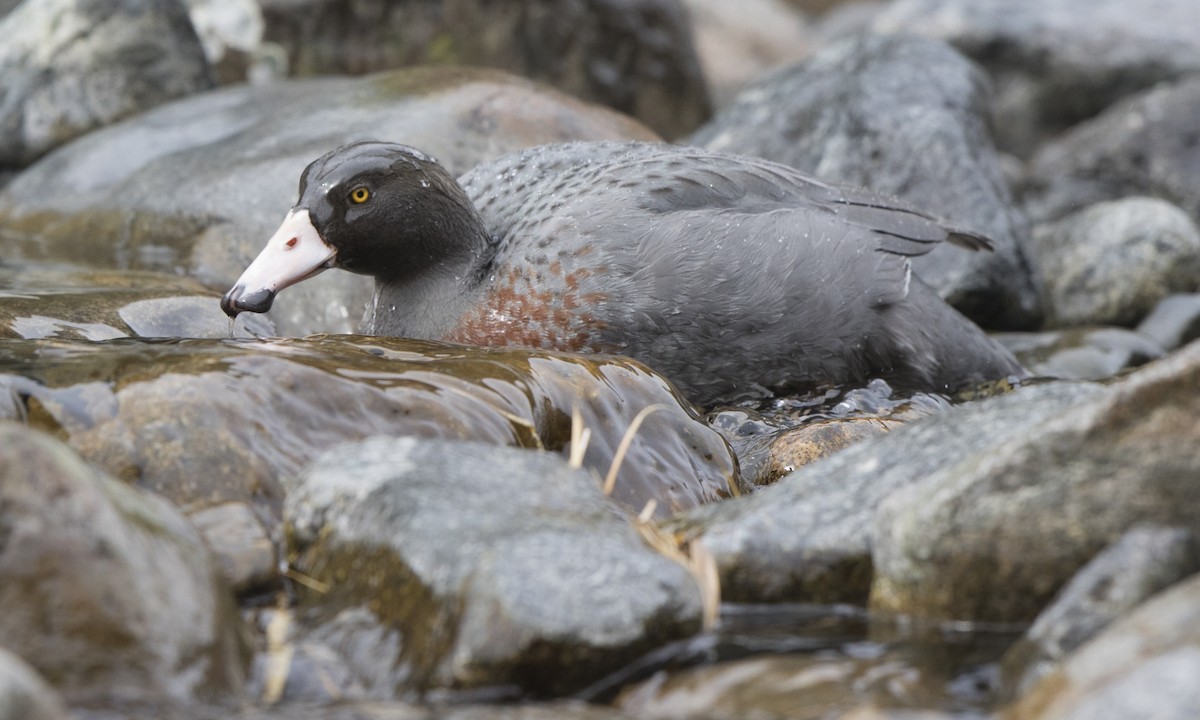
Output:
[[[1004,720],[1200,716],[1200,576],[1147,600],[1072,653]]]

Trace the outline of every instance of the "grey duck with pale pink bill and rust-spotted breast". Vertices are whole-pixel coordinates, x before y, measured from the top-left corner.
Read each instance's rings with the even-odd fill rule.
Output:
[[[899,200],[767,160],[658,143],[542,145],[456,181],[395,143],[310,164],[221,301],[265,312],[328,268],[376,278],[372,335],[617,353],[710,404],[883,378],[950,392],[1024,374],[912,275],[948,240]]]

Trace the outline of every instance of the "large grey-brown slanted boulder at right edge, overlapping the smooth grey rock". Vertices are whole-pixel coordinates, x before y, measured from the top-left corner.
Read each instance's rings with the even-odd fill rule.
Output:
[[[1030,620],[1132,527],[1195,526],[1198,416],[1193,343],[1099,397],[1021,418],[1020,432],[986,456],[930,473],[880,504],[871,606]]]

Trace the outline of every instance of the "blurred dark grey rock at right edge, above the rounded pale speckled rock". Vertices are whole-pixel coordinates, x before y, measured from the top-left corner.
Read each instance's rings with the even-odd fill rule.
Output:
[[[1081,122],[1030,161],[1026,211],[1045,223],[1096,203],[1152,196],[1200,223],[1200,143],[1188,120],[1196,114],[1200,78],[1192,78],[1129,97]]]

